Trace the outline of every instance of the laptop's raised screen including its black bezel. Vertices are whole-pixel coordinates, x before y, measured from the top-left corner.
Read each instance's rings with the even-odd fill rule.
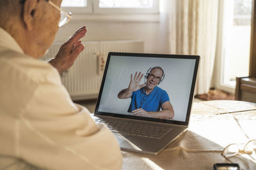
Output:
[[[199,56],[110,52],[96,115],[188,124]]]

